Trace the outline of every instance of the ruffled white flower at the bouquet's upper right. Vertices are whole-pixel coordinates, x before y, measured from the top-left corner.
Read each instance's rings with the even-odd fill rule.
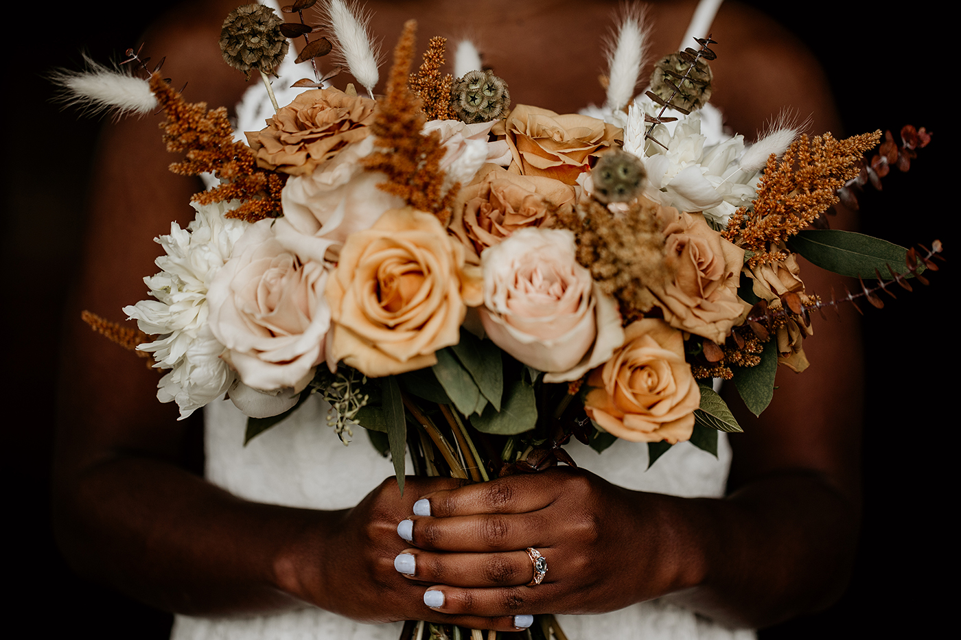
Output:
[[[653,137],[661,144],[645,141],[645,113],[659,111],[660,106],[647,96],[638,98],[628,110],[624,132],[625,151],[644,160],[645,195],[666,207],[703,211],[706,218],[726,225],[738,207],[751,204],[760,177],[760,172],[741,169],[744,136],[724,135],[720,112],[707,105],[687,116],[670,110],[665,115],[678,121],[653,129]]]

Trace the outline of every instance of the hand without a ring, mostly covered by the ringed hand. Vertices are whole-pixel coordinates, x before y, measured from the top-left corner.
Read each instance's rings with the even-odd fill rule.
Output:
[[[298,536],[278,562],[283,590],[355,620],[384,623],[428,620],[468,628],[516,630],[513,614],[447,615],[423,602],[424,584],[403,577],[394,558],[408,543],[397,523],[420,497],[451,490],[460,480],[407,477],[401,496],[394,478],[384,480],[352,509],[327,512],[319,526]],[[317,512],[318,514],[324,512]]]

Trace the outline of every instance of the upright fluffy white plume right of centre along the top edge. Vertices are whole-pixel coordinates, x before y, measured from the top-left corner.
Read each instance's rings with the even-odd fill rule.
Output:
[[[611,110],[623,109],[631,98],[647,57],[650,27],[645,24],[646,9],[641,5],[624,5],[617,34],[606,41],[607,102]]]

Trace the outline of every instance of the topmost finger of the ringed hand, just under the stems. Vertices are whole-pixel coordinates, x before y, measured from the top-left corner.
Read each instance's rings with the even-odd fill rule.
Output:
[[[456,489],[435,491],[414,503],[416,515],[447,518],[478,513],[526,513],[554,502],[556,482],[547,474],[510,476]]]

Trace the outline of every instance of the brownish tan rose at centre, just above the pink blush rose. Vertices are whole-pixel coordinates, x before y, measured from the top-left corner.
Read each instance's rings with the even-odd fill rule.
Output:
[[[450,229],[467,248],[467,260],[476,264],[484,249],[519,229],[551,227],[552,210],[571,211],[574,200],[572,186],[485,164],[474,182],[460,189]]]

